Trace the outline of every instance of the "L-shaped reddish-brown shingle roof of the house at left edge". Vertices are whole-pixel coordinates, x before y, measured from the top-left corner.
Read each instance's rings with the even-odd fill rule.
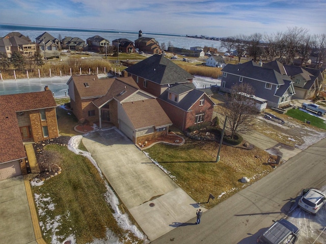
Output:
[[[0,163],[26,157],[16,112],[53,107],[57,104],[50,90],[0,96]]]

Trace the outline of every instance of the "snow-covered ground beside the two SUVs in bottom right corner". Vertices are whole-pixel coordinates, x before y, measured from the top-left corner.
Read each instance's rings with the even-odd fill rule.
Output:
[[[326,186],[320,191],[326,194]],[[298,243],[326,243],[326,204],[316,216],[296,207],[288,221],[300,229]]]

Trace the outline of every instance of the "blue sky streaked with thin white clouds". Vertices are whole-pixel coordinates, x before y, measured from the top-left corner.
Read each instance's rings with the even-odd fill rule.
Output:
[[[326,34],[326,0],[0,0],[0,23],[230,37]]]

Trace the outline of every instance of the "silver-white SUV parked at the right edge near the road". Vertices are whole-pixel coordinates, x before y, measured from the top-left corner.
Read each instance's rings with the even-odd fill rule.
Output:
[[[317,189],[310,189],[307,191],[304,190],[298,205],[305,211],[310,212],[310,214],[316,215],[325,202],[326,195],[323,192]]]

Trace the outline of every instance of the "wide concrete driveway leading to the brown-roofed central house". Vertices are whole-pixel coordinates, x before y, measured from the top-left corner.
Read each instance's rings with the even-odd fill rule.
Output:
[[[89,133],[83,143],[149,240],[195,218],[196,202],[119,130]]]

